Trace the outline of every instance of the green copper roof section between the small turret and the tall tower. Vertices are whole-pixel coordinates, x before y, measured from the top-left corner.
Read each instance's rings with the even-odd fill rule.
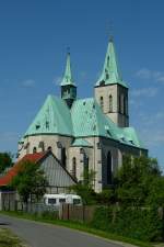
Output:
[[[75,137],[105,136],[117,138],[115,124],[106,117],[93,98],[77,100],[71,108]]]

